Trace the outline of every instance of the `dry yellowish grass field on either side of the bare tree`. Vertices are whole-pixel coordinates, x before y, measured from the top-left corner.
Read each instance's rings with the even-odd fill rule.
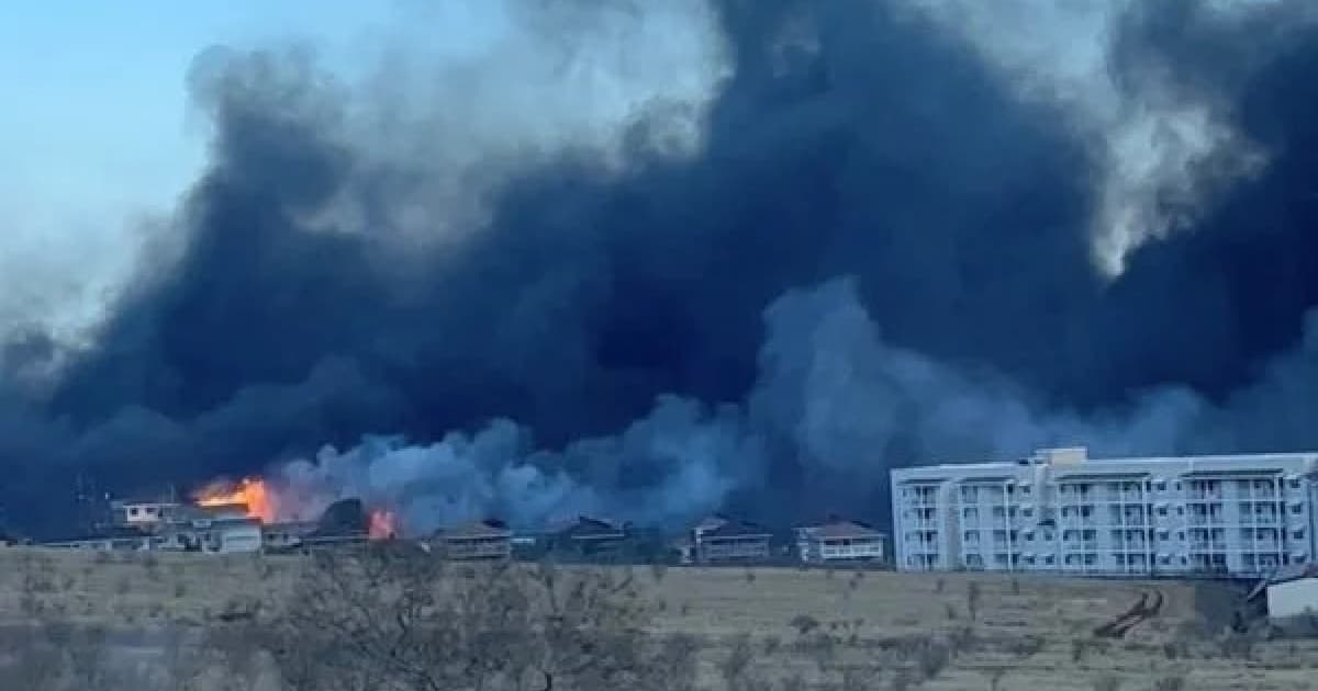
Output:
[[[278,608],[304,563],[0,550],[0,625],[59,617],[125,641],[204,629],[233,612]],[[739,650],[753,653],[749,674],[766,687],[793,675],[818,687],[812,669],[829,657],[929,667],[915,678],[884,673],[858,688],[1318,688],[1318,641],[1231,633],[1240,592],[1219,584],[735,567],[635,567],[634,578],[655,604],[654,629],[701,642],[700,679],[710,684]],[[1149,611],[1128,630],[1103,634],[1141,601]],[[840,645],[805,645],[816,632]],[[929,661],[931,641],[950,642]]]

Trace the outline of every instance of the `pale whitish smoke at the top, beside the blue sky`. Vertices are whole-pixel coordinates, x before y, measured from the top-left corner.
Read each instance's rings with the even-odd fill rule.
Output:
[[[695,155],[733,72],[709,0],[405,7],[348,88],[344,142],[376,197],[345,191],[326,218],[337,230],[453,242],[539,162],[572,155],[614,175],[638,147]]]

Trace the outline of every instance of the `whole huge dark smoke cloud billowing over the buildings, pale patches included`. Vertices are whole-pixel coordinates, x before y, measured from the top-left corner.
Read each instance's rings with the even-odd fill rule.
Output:
[[[94,347],[12,334],[11,511],[274,467],[420,526],[882,520],[892,465],[1318,444],[1306,4],[1082,7],[1070,72],[952,0],[660,5],[497,4],[530,53],[365,90],[207,54],[175,236]]]

